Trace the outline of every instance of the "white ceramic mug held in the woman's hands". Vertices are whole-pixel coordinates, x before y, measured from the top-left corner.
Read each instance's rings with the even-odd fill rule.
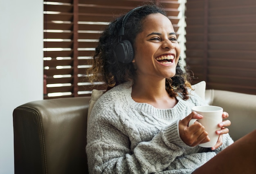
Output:
[[[223,109],[218,106],[195,106],[192,108],[192,111],[197,112],[198,114],[204,116],[202,119],[191,119],[189,121],[189,126],[195,123],[195,121],[198,121],[201,123],[205,131],[208,133],[208,136],[210,138],[210,141],[207,143],[199,144],[201,147],[213,147],[216,145],[219,135],[216,134],[216,130],[219,130],[220,127],[218,127],[218,124],[222,122],[222,113]]]

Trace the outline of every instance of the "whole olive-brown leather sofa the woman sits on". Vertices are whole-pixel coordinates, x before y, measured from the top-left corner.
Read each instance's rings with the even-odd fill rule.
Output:
[[[206,90],[210,105],[229,113],[234,140],[256,129],[256,95]],[[90,97],[39,100],[13,111],[15,174],[86,174]]]

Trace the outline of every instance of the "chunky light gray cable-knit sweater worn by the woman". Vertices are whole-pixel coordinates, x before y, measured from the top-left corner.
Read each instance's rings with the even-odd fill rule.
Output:
[[[186,145],[179,136],[178,122],[193,106],[206,104],[196,94],[177,100],[171,109],[136,103],[128,83],[103,94],[88,123],[90,173],[189,174],[233,143],[225,134],[222,146],[214,151]]]

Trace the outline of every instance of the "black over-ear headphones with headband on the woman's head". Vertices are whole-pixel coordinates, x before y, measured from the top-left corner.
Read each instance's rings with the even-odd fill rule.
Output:
[[[115,47],[115,56],[117,57],[117,60],[119,62],[123,62],[123,63],[130,63],[133,60],[134,57],[134,51],[132,48],[132,44],[129,40],[123,40],[122,41],[122,36],[124,36],[124,27],[126,25],[126,22],[129,18],[129,16],[131,15],[131,13],[133,11],[135,11],[136,9],[139,9],[141,7],[136,7],[135,9],[132,9],[131,11],[129,11],[123,18],[122,20],[122,26],[121,29],[118,32],[118,44]]]

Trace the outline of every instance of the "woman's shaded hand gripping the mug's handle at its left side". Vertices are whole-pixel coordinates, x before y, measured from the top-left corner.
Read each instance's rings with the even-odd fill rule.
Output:
[[[208,136],[208,133],[204,130],[204,126],[202,126],[201,123],[198,121],[195,121],[195,123],[191,126],[189,126],[189,121],[192,119],[202,119],[203,116],[192,112],[188,116],[186,116],[183,120],[180,120],[179,122],[179,132],[180,132],[180,138],[184,143],[187,145],[194,147],[201,143],[207,143],[210,141],[210,138]]]

